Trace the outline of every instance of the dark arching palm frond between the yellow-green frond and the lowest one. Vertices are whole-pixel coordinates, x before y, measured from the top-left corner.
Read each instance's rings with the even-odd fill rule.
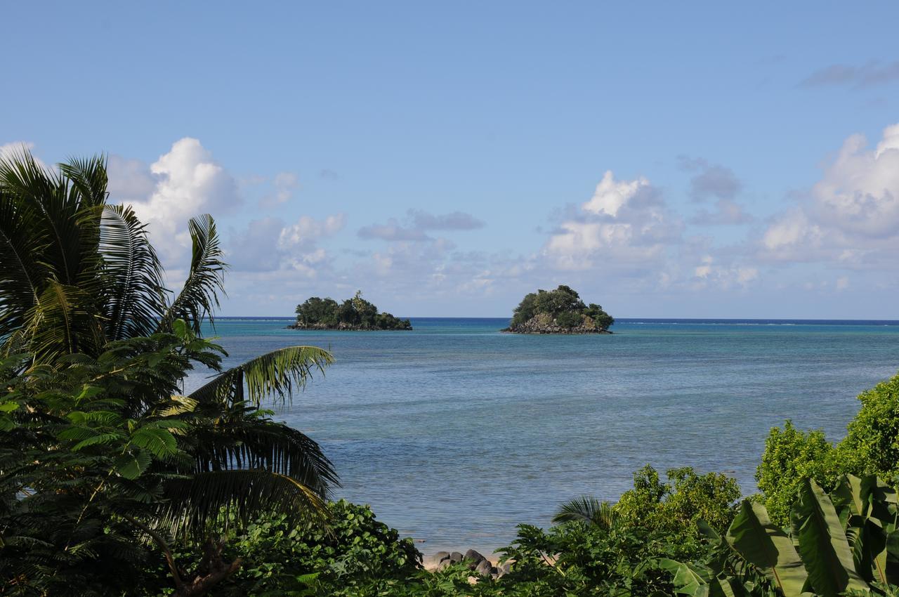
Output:
[[[287,475],[327,499],[340,482],[331,460],[305,433],[267,418],[224,418],[194,424],[190,450],[200,471],[250,468]]]

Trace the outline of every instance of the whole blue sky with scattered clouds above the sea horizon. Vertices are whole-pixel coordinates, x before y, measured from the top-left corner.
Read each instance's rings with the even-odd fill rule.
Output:
[[[108,156],[223,316],[899,319],[893,2],[4,6],[0,153]]]

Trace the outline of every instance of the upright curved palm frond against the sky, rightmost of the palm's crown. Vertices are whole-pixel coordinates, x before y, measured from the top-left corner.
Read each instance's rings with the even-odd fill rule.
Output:
[[[181,292],[160,320],[158,331],[169,331],[175,319],[183,319],[200,334],[203,319],[209,317],[209,322],[214,322],[218,293],[225,293],[223,273],[227,264],[221,259],[215,220],[209,214],[191,218],[188,228],[192,240],[191,269]]]

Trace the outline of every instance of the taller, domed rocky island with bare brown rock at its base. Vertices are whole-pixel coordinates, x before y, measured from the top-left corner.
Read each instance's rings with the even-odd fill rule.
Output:
[[[538,290],[526,296],[512,314],[503,332],[515,334],[611,334],[615,319],[567,286]]]

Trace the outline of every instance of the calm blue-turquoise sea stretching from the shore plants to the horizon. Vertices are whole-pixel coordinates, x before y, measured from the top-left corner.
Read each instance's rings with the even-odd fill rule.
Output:
[[[322,444],[337,496],[425,553],[506,545],[574,496],[616,499],[646,463],[723,471],[750,494],[771,426],[839,439],[859,392],[899,369],[899,322],[625,320],[589,336],[500,334],[507,319],[217,322],[227,365],[291,344],[334,352],[278,416]]]

